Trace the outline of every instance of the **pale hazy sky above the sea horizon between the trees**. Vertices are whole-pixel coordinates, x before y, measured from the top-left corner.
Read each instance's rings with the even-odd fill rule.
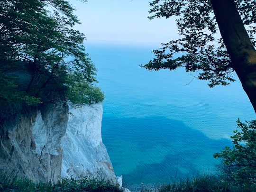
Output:
[[[150,0],[72,0],[82,25],[77,28],[89,42],[168,42],[177,37],[174,19],[149,20]]]

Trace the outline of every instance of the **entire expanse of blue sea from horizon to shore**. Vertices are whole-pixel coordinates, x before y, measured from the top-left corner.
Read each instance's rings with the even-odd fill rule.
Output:
[[[102,139],[125,184],[163,183],[214,172],[236,120],[255,119],[240,82],[209,88],[184,69],[149,72],[143,45],[85,45],[105,93]]]

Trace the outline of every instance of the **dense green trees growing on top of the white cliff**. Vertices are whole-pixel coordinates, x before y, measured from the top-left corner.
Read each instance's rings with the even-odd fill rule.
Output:
[[[73,29],[80,23],[73,10],[66,0],[0,1],[2,105],[71,99],[75,90],[80,94],[73,102],[83,103],[83,89],[95,89],[96,69],[84,53],[84,35]],[[103,99],[102,94],[97,101]]]

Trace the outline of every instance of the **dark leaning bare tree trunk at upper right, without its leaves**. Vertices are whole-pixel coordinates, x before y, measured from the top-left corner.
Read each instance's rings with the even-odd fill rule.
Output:
[[[211,0],[211,4],[232,67],[256,112],[256,50],[234,0]]]

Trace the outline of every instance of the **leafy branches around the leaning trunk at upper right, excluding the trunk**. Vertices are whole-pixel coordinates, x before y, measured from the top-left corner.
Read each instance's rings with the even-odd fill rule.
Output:
[[[149,13],[154,15],[149,18],[174,17],[181,38],[163,43],[161,48],[153,51],[155,58],[143,67],[156,71],[184,67],[186,72],[197,72],[199,79],[208,80],[210,87],[217,84],[227,85],[234,81],[234,64],[219,35],[219,26],[212,7],[213,1],[154,0],[151,2]],[[235,1],[251,42],[256,46],[256,1]]]

